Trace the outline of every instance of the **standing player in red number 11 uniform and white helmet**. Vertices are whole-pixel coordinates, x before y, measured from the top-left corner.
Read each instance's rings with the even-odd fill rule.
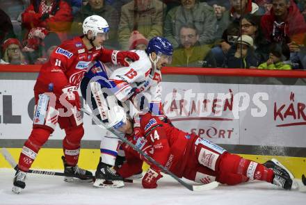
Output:
[[[104,18],[98,15],[87,17],[83,22],[83,35],[63,42],[54,49],[49,61],[42,65],[34,87],[33,129],[22,147],[13,192],[19,193],[26,186],[26,172],[57,123],[66,133],[63,139],[65,173],[75,174],[81,180],[92,179],[91,172],[77,166],[84,133],[81,102],[77,92],[79,84],[93,60],[129,66],[128,58],[131,61],[139,58],[130,51],[105,49],[102,44],[108,39],[108,31]],[[74,180],[65,177],[65,181]]]

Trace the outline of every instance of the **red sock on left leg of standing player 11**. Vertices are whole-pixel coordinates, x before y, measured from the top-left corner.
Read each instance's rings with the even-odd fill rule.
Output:
[[[35,160],[40,147],[47,142],[51,131],[42,128],[33,128],[31,135],[22,147],[22,153],[19,156],[18,168],[23,172],[28,172]]]

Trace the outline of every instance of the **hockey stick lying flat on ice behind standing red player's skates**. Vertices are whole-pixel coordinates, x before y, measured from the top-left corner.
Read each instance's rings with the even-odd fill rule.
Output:
[[[13,167],[13,169],[17,171],[18,165],[17,165],[15,159],[13,158],[13,156],[8,151],[8,149],[6,149],[5,147],[2,147],[1,154],[6,159],[6,161]],[[47,171],[47,170],[29,170],[28,173],[51,175],[51,176],[61,176],[61,177],[77,177],[76,174],[66,174],[66,173],[63,173],[63,172],[53,172],[53,171]],[[90,177],[91,177],[91,179],[95,179],[95,176],[90,176]],[[132,179],[124,179],[124,182],[133,183],[133,180]]]

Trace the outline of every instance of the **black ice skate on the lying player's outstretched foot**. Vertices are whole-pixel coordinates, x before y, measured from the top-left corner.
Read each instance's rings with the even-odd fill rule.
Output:
[[[276,186],[280,186],[286,190],[290,190],[293,182],[293,174],[287,170],[284,165],[282,165],[275,158],[271,159],[271,161],[266,161],[264,166],[270,168],[274,172],[274,178],[272,183]],[[292,178],[291,178],[292,177]]]

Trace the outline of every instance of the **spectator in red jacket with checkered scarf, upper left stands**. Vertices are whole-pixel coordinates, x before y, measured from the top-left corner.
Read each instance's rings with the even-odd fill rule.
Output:
[[[64,0],[33,0],[22,13],[25,38],[28,38],[31,29],[46,28],[47,31],[58,33],[61,40],[66,40],[72,19],[72,8]]]

